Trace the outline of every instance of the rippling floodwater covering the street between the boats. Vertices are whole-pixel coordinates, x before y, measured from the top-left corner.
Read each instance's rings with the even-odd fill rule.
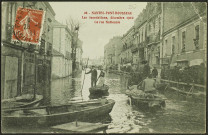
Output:
[[[114,99],[116,103],[108,116],[99,118],[96,122],[108,124],[107,133],[205,132],[205,104],[179,100],[176,96],[172,96],[173,93],[168,95],[167,92],[165,96],[168,98],[164,109],[154,113],[142,111],[129,105],[128,96],[125,95],[127,79],[124,76],[106,74],[105,81],[110,87],[110,94],[106,98]],[[57,79],[51,84],[51,104],[89,100],[90,74],[84,75],[84,71],[75,78]]]

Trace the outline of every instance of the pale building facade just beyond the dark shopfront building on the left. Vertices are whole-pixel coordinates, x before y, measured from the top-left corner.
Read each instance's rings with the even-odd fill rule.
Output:
[[[52,78],[62,78],[71,75],[71,50],[71,35],[69,28],[58,21],[54,21]]]

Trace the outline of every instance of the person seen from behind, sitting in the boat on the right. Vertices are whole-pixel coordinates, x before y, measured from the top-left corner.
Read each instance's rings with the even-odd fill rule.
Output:
[[[152,79],[152,75],[149,74],[146,79],[144,79],[142,83],[142,87],[144,89],[144,92],[154,92],[156,91],[155,88],[155,80]]]

